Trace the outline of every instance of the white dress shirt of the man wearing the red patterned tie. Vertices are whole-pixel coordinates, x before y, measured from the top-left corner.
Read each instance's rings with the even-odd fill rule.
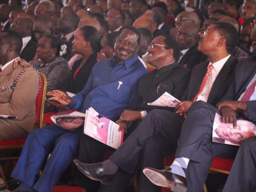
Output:
[[[223,67],[223,65],[229,58],[229,56],[230,56],[230,54],[228,56],[226,56],[225,58],[222,58],[221,60],[218,60],[217,62],[214,62],[214,63],[209,62],[208,67],[210,64],[212,64],[213,68],[211,69],[210,75],[208,76],[206,85],[204,86],[201,94],[198,95],[196,100],[202,100],[204,102],[207,102],[211,87],[212,87],[219,71],[221,70],[221,68]]]

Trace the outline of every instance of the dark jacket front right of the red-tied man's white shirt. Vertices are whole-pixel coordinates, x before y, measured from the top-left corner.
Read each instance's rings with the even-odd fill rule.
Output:
[[[207,99],[208,103],[211,103],[212,100],[216,98],[216,95],[218,94],[219,89],[221,88],[221,84],[225,82],[226,78],[229,76],[230,71],[234,69],[233,62],[234,62],[234,58],[230,56],[225,62],[225,64],[223,65],[223,67],[221,68],[221,70],[219,71],[210,89],[210,93]]]

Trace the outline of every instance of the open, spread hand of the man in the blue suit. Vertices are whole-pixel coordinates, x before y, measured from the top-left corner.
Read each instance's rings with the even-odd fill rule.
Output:
[[[48,91],[46,93],[46,95],[52,96],[49,98],[49,100],[56,100],[59,103],[64,104],[64,105],[70,105],[73,102],[72,97],[66,95],[66,93],[61,90]]]

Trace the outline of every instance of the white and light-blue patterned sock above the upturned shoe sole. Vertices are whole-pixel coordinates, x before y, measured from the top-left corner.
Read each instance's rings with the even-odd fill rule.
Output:
[[[170,165],[171,172],[178,174],[180,176],[186,177],[185,171],[186,171],[188,162],[189,162],[189,158],[185,158],[185,157],[175,158],[172,164]]]

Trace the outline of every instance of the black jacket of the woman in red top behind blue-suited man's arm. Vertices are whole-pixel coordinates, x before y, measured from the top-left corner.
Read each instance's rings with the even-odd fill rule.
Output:
[[[80,92],[82,90],[82,88],[84,87],[84,85],[86,84],[89,74],[90,74],[90,71],[91,71],[92,67],[94,66],[94,64],[97,62],[97,53],[94,52],[89,56],[89,58],[82,65],[80,70],[78,70],[78,72],[76,73],[75,78],[73,78],[74,73],[75,73],[76,69],[79,67],[81,61],[82,61],[82,58],[79,60],[76,60],[74,62],[72,70],[71,70],[70,79],[68,81],[67,90],[69,92],[72,92],[75,94],[77,92]]]

